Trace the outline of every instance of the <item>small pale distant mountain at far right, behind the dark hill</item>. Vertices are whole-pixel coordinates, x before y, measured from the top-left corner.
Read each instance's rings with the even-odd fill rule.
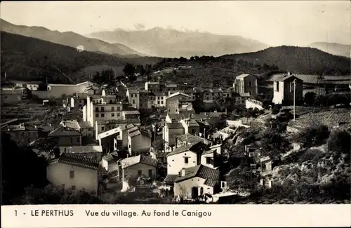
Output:
[[[310,48],[317,48],[326,53],[332,55],[345,56],[347,58],[351,57],[351,45],[341,44],[341,43],[326,43],[326,42],[316,42],[308,45]]]

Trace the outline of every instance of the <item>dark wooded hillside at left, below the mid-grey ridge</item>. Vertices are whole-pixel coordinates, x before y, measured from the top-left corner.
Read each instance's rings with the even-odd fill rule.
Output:
[[[9,79],[48,80],[55,83],[81,82],[89,73],[81,69],[98,69],[99,65],[124,67],[133,64],[154,64],[159,58],[121,58],[114,55],[78,52],[76,48],[1,32],[1,72]],[[67,79],[64,74],[70,79]]]

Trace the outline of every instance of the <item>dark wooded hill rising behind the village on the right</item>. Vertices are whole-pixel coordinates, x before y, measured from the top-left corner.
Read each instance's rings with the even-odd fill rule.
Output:
[[[296,74],[350,74],[350,58],[324,53],[315,48],[274,47],[256,53],[224,55],[218,58],[185,58],[159,62],[161,77],[178,83],[228,87],[239,74],[270,74],[291,71]],[[176,69],[174,69],[176,67]],[[177,68],[178,67],[178,68]],[[163,69],[163,70],[162,70]],[[155,75],[157,77],[159,75]]]

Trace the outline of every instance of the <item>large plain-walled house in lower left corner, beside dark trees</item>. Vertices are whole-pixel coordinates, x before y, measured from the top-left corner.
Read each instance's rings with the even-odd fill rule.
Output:
[[[53,185],[98,192],[98,161],[76,154],[62,154],[46,171]]]

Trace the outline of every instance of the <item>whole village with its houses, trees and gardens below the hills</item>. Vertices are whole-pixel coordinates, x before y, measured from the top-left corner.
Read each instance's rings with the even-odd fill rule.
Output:
[[[40,175],[51,188],[133,193],[125,203],[249,201],[274,191],[296,202],[316,186],[316,198],[333,195],[331,183],[350,173],[350,77],[234,78],[230,88],[5,79],[2,139],[45,159]]]

